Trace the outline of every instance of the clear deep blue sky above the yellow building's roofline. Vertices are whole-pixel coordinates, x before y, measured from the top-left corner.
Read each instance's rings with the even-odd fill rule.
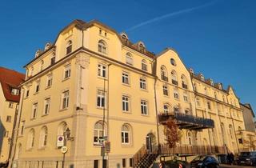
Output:
[[[231,84],[256,110],[256,1],[254,0],[3,0],[0,66],[22,66],[75,18],[97,19],[158,54],[178,51],[187,67]]]

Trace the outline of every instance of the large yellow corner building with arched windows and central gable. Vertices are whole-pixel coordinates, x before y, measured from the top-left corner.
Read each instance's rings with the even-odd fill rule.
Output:
[[[145,154],[150,164],[169,118],[178,146],[238,150],[232,87],[198,78],[172,49],[155,55],[101,22],[74,20],[24,67],[12,167],[139,167]]]

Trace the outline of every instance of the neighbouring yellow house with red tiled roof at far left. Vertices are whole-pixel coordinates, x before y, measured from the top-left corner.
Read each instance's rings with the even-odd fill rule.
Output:
[[[13,128],[18,113],[19,85],[25,75],[0,67],[0,162],[8,162],[12,146]]]

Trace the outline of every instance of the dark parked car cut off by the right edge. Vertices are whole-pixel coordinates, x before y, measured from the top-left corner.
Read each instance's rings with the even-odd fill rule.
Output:
[[[256,166],[256,151],[254,152],[241,152],[236,159],[238,165]]]

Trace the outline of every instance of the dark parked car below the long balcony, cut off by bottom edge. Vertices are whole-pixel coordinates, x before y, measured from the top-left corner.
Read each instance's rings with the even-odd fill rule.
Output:
[[[199,155],[190,162],[190,167],[219,168],[218,159],[210,155]]]

